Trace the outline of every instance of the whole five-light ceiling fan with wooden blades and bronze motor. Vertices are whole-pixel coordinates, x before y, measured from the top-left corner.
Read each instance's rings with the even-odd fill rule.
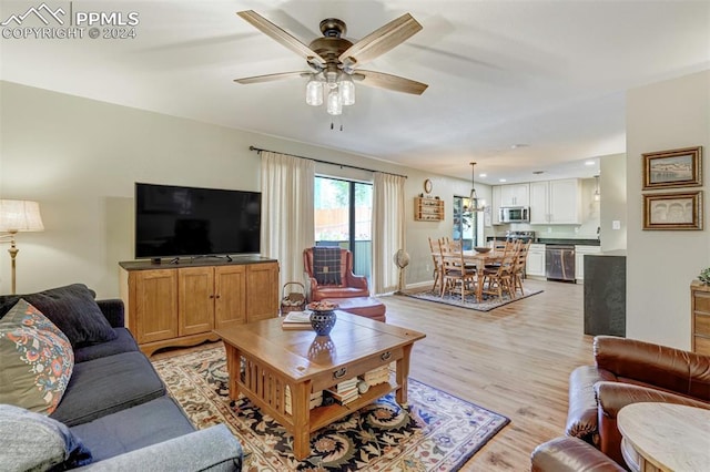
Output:
[[[422,30],[422,24],[409,13],[390,21],[355,43],[343,38],[346,32],[344,21],[336,18],[327,18],[321,21],[323,37],[314,39],[308,45],[253,10],[240,11],[236,14],[264,34],[303,57],[308,64],[310,71],[257,75],[236,79],[234,82],[250,84],[298,76],[310,78],[306,86],[306,102],[312,105],[322,104],[323,95],[318,96],[318,92],[325,90],[328,100],[328,113],[331,114],[339,114],[332,113],[332,99],[339,101],[341,105],[354,103],[354,95],[349,96],[351,92],[354,93],[353,80],[361,82],[363,85],[415,95],[420,95],[428,86],[425,83],[398,75],[359,69],[361,65],[378,58]],[[338,89],[341,93],[332,93],[337,92]],[[336,105],[337,103],[334,103],[334,106]]]

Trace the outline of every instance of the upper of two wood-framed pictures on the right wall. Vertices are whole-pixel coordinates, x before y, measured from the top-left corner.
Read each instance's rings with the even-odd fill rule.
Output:
[[[702,185],[702,146],[643,154],[643,189]]]

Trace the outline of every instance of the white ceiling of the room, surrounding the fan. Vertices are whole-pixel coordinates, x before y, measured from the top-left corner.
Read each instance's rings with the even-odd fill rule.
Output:
[[[476,161],[487,174],[476,181],[489,184],[595,175],[599,156],[625,152],[627,90],[710,68],[710,1],[47,3],[135,11],[136,38],[3,38],[2,80],[463,178]],[[40,4],[2,1],[0,21]],[[356,85],[357,103],[331,130],[325,110],[305,104],[305,79],[233,82],[306,70],[235,14],[247,9],[306,44],[325,18],[345,21],[355,42],[409,12],[424,29],[366,69],[429,88],[417,96]]]

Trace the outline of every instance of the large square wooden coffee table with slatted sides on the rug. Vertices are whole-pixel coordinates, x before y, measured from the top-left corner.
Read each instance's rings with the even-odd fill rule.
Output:
[[[313,330],[284,330],[281,318],[215,331],[224,341],[230,373],[230,398],[246,396],[293,434],[293,452],[303,460],[311,453],[310,437],[316,431],[376,399],[395,391],[407,402],[409,355],[424,334],[337,311],[329,337]],[[311,393],[363,374],[390,362],[396,372],[389,382],[372,387],[347,406],[310,409]],[[286,411],[285,391],[292,408]]]

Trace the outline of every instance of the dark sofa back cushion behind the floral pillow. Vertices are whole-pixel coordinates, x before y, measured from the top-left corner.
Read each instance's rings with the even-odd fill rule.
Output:
[[[24,298],[52,320],[67,335],[74,348],[110,341],[116,337],[94,300],[94,293],[83,284],[68,285],[37,294],[0,297],[0,316],[16,297]]]

